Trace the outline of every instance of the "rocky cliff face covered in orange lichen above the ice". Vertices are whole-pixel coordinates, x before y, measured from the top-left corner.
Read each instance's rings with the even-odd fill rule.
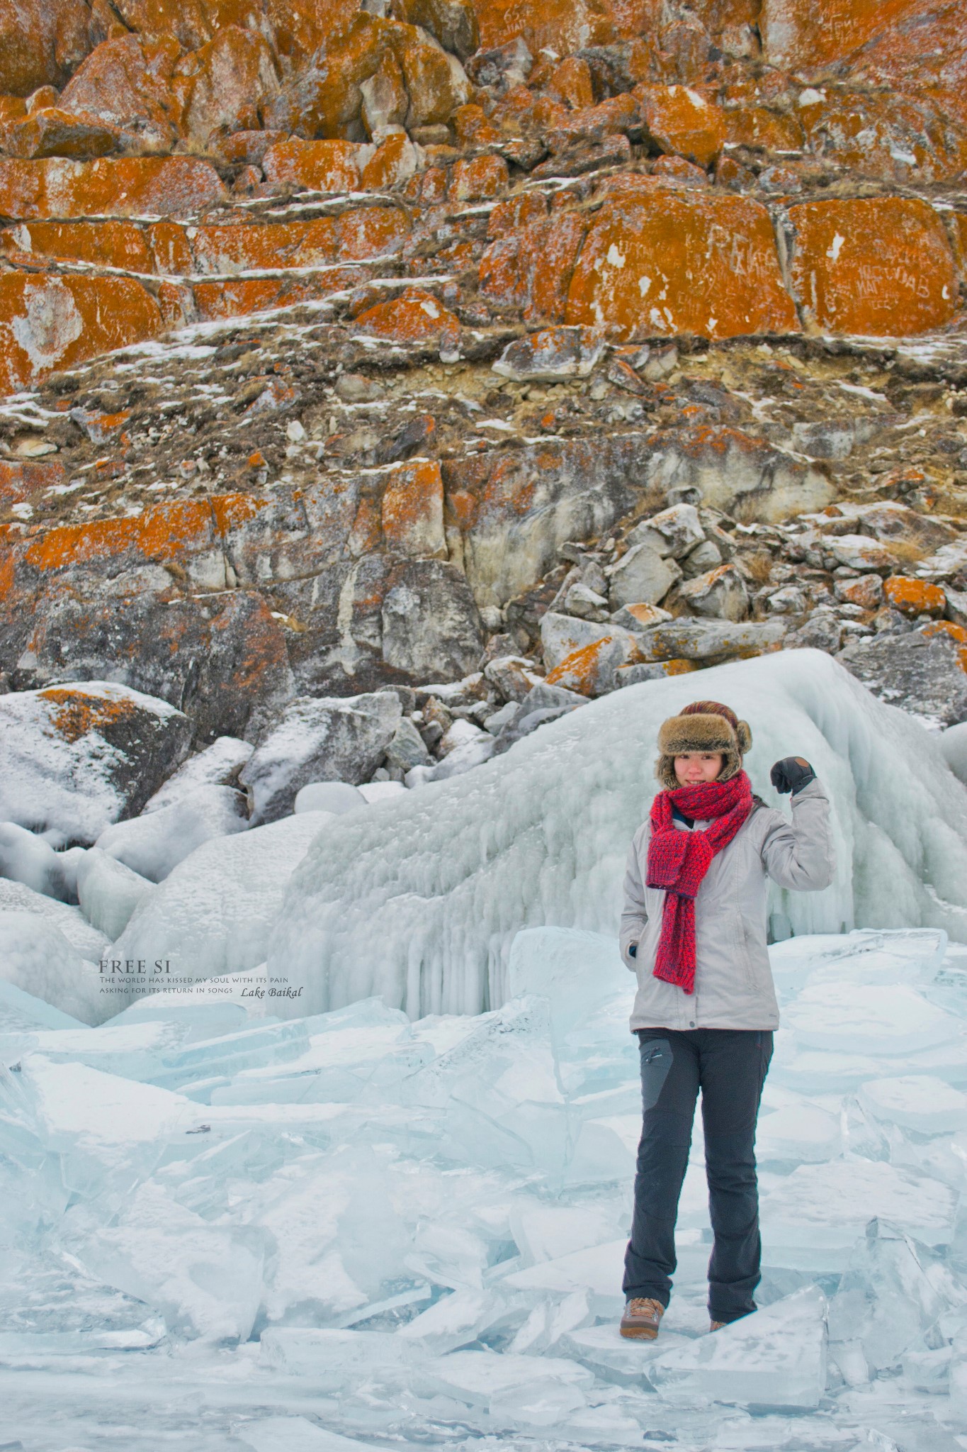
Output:
[[[0,0],[7,690],[394,688],[396,777],[787,645],[963,719],[966,76],[941,0]]]

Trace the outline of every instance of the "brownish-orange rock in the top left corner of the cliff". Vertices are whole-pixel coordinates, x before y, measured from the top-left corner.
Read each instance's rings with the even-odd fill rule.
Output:
[[[90,49],[84,0],[6,0],[0,6],[0,91],[62,86]]]

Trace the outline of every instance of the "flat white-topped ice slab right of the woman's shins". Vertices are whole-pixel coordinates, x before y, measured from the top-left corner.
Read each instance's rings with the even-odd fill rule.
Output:
[[[883,1160],[800,1165],[761,1198],[763,1257],[796,1270],[845,1270],[871,1215],[941,1246],[953,1237],[955,1208],[948,1185]]]

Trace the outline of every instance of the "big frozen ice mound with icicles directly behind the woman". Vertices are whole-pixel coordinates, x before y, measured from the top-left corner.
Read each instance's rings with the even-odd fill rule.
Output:
[[[465,775],[333,823],[293,874],[270,950],[270,971],[304,987],[297,1011],[378,993],[415,1018],[478,1012],[507,996],[519,928],[612,931],[658,725],[696,694],[689,675],[616,691]],[[818,650],[718,666],[700,694],[751,723],[765,800],[780,802],[768,770],[793,752],[832,797],[837,881],[773,890],[776,938],[863,925],[967,938],[967,791],[935,735]]]

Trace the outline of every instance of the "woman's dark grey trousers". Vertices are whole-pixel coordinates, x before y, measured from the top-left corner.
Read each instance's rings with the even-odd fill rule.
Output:
[[[625,1295],[647,1295],[668,1305],[678,1196],[700,1089],[715,1234],[709,1316],[713,1321],[736,1321],[755,1310],[752,1292],[760,1282],[755,1119],[773,1035],[768,1029],[644,1028],[638,1040],[642,1130]]]

